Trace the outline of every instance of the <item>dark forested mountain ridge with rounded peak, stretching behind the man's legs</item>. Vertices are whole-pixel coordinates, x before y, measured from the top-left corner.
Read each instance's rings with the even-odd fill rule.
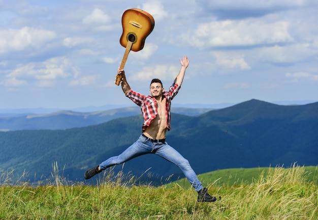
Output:
[[[82,128],[0,132],[0,172],[14,170],[21,175],[25,170],[36,182],[51,177],[56,161],[68,180],[83,181],[86,169],[137,140],[142,121],[138,114]],[[172,114],[167,142],[200,174],[294,162],[317,166],[317,133],[318,102],[282,106],[252,99],[197,116]],[[155,155],[115,166],[114,172],[118,171],[153,183],[165,182],[171,175],[170,180],[183,177],[179,168]],[[86,182],[94,183],[94,178]]]

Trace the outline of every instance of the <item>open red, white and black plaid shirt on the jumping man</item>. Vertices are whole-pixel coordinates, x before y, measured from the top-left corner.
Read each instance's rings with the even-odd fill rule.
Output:
[[[168,91],[163,92],[163,98],[166,98],[166,124],[167,129],[170,130],[170,107],[171,100],[177,95],[181,87],[175,82],[172,84]],[[142,95],[138,92],[133,91],[132,89],[129,93],[126,94],[133,102],[135,102],[141,108],[142,115],[144,117],[144,123],[142,125],[142,131],[145,131],[146,128],[150,125],[151,121],[158,115],[157,111],[157,101],[154,97],[150,95]]]

